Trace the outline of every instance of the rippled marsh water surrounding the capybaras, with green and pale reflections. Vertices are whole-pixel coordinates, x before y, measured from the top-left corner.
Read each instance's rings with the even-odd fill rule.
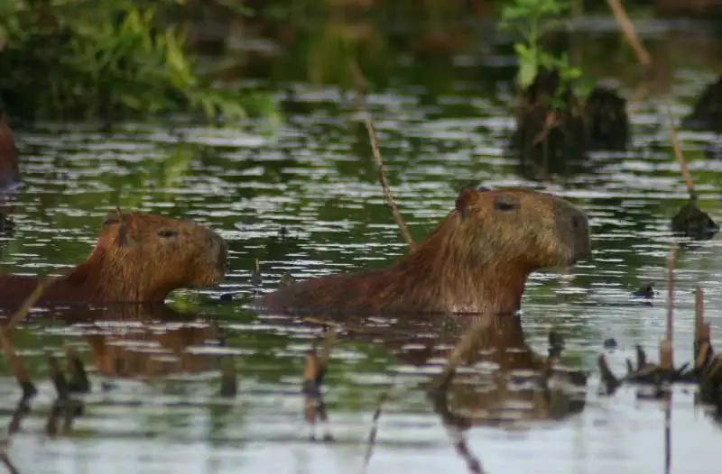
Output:
[[[634,96],[631,54],[618,46],[611,25],[591,24],[600,24],[601,32],[590,28],[575,43],[585,68]],[[662,404],[637,400],[634,388],[599,397],[596,360],[608,337],[619,343],[607,352],[617,374],[624,373],[634,344],[657,359],[668,225],[686,198],[658,105],[671,94],[675,117],[686,114],[714,78],[714,51],[721,44],[694,25],[645,25],[643,35],[651,38],[663,74],[653,96],[633,106],[633,147],[624,155],[595,153],[586,172],[551,184],[519,176],[505,151],[514,98],[508,83],[485,78],[508,76],[509,59],[498,51],[414,60],[398,54],[389,59],[393,68],[384,69],[388,84],[370,97],[393,193],[417,240],[448,213],[456,190],[468,182],[537,187],[568,197],[590,216],[592,259],[564,274],[532,275],[522,317],[525,342],[540,355],[551,328],[564,335],[561,360],[570,369],[589,370],[588,385],[580,396],[560,396],[556,415],[546,402],[514,390],[487,390],[486,402],[473,390],[455,392],[457,407],[477,411],[467,443],[488,472],[663,471]],[[604,45],[611,43],[616,46],[608,54]],[[292,62],[297,54],[291,50],[274,60]],[[433,341],[432,329],[342,338],[325,383],[336,442],[310,442],[300,395],[302,356],[319,329],[243,307],[255,291],[255,259],[268,290],[286,270],[308,278],[378,266],[405,245],[384,206],[352,97],[297,70],[274,74],[259,84],[278,91],[281,121],[230,130],[177,122],[173,132],[168,123],[123,123],[110,134],[77,124],[39,124],[17,133],[24,185],[14,206],[14,237],[4,242],[3,271],[57,274],[83,260],[101,216],[116,205],[191,217],[218,230],[230,248],[222,287],[174,294],[171,305],[179,314],[90,319],[33,312],[14,332],[14,345],[41,392],[9,449],[20,472],[360,471],[376,400],[391,384],[395,395],[384,405],[368,472],[465,471],[440,416],[417,387],[443,362],[415,363],[413,353]],[[703,151],[715,137],[683,132],[681,138],[700,205],[718,221],[722,166]],[[706,291],[713,343],[722,343],[718,249],[717,239],[680,253],[677,360],[691,356],[691,290],[698,283]],[[627,305],[629,293],[648,281],[660,292],[653,305]],[[221,302],[225,293],[235,299]],[[71,433],[50,437],[44,427],[54,390],[45,351],[60,355],[64,345],[80,351],[94,390]],[[232,402],[218,397],[221,355],[234,356],[240,373]],[[126,360],[122,368],[115,365],[118,357]],[[493,368],[478,370],[487,383],[493,379]],[[117,377],[118,371],[133,377]],[[112,387],[101,389],[102,381]],[[693,392],[680,387],[672,397],[673,472],[711,472],[718,464],[720,425],[695,406]],[[20,391],[5,360],[0,393],[2,419],[9,422]],[[569,413],[572,398],[585,400],[580,412]],[[506,408],[489,415],[485,403]],[[505,423],[492,423],[500,413]]]

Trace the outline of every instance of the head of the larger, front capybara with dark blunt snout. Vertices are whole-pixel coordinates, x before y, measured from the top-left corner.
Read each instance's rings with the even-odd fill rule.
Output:
[[[460,248],[480,265],[532,271],[567,267],[591,253],[587,216],[569,201],[531,189],[466,187],[455,219]]]

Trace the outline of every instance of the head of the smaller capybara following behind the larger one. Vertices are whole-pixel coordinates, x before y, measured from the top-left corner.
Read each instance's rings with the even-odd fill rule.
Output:
[[[118,210],[106,216],[96,249],[76,273],[96,273],[106,301],[162,301],[176,288],[218,284],[226,260],[223,239],[198,223]]]

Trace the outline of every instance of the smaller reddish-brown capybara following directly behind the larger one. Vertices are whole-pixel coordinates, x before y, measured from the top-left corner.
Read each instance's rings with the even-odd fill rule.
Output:
[[[88,260],[51,282],[40,304],[162,303],[174,289],[217,284],[226,243],[192,221],[156,214],[109,214]],[[0,305],[17,305],[39,279],[0,276]]]

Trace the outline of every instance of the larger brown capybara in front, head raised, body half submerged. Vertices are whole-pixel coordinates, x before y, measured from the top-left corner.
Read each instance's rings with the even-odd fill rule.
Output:
[[[385,269],[312,278],[256,299],[292,313],[513,313],[536,269],[566,267],[591,251],[587,216],[529,189],[474,189],[435,231]]]

